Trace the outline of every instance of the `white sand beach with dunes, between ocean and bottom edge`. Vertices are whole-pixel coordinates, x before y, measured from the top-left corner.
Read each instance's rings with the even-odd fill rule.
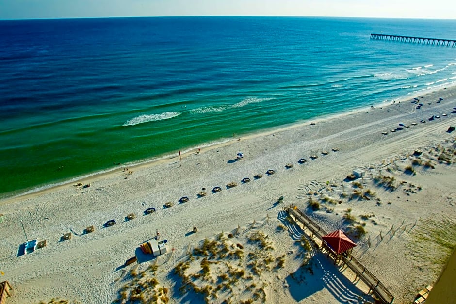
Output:
[[[353,282],[350,271],[341,272],[342,266],[314,246],[305,249],[303,231],[283,212],[289,205],[328,232],[362,226],[366,234],[352,237],[353,255],[390,290],[395,303],[413,301],[433,284],[447,255],[440,242],[425,236],[432,239],[455,227],[456,131],[447,132],[456,126],[454,107],[456,88],[441,89],[312,120],[315,125],[306,121],[236,137],[181,160],[176,155],[129,167],[132,174],[119,168],[82,180],[88,188],[72,183],[3,200],[0,281],[14,288],[7,303],[52,298],[130,303],[121,298],[131,299],[135,286],[144,303],[204,303],[205,298],[209,303],[373,302],[365,294],[369,288]],[[396,130],[401,123],[408,127]],[[415,149],[423,154],[414,155]],[[235,160],[239,151],[244,158]],[[302,158],[307,162],[299,164]],[[286,168],[287,163],[293,166]],[[366,172],[364,178],[358,184],[344,181],[356,168]],[[275,174],[265,174],[269,169]],[[254,179],[256,174],[262,178]],[[244,177],[251,181],[241,183]],[[229,182],[237,186],[228,189]],[[217,186],[222,191],[212,193]],[[207,195],[198,197],[203,188]],[[370,194],[350,198],[357,189]],[[179,204],[183,196],[189,201]],[[277,203],[280,196],[283,204]],[[319,210],[308,207],[310,197]],[[164,208],[169,201],[173,206]],[[156,212],[144,215],[150,207]],[[135,219],[125,221],[130,213]],[[103,227],[112,219],[117,224]],[[47,246],[18,256],[25,241],[21,221],[29,239],[47,240]],[[83,234],[90,225],[95,231]],[[170,253],[124,267],[156,230],[168,240]],[[72,238],[61,241],[67,232]],[[206,238],[207,246],[213,242],[217,248],[213,254],[198,251]],[[209,274],[202,271],[203,260]]]

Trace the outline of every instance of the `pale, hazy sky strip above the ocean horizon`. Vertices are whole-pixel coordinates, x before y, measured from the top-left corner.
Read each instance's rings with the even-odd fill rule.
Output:
[[[456,19],[455,0],[0,0],[0,19],[341,16]]]

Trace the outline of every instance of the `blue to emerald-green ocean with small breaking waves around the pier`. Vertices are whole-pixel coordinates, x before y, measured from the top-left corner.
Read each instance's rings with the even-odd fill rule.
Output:
[[[0,197],[455,83],[456,47],[371,33],[456,20],[0,21]]]

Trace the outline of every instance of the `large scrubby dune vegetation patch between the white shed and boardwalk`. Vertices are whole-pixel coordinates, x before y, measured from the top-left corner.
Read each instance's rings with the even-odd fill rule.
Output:
[[[179,291],[206,303],[265,303],[268,278],[286,267],[287,255],[263,231],[221,233],[204,239],[174,268]]]

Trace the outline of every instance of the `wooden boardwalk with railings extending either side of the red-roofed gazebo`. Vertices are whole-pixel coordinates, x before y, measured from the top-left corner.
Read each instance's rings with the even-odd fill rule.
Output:
[[[304,212],[297,209],[295,206],[286,207],[285,211],[290,215],[295,222],[301,222],[305,228],[308,228],[312,236],[316,236],[323,243],[323,236],[326,235],[326,231],[323,230],[318,224],[313,222]],[[333,256],[329,253],[333,259],[336,259],[336,256]],[[364,283],[369,286],[369,292],[371,291],[385,304],[391,304],[394,301],[394,297],[391,292],[383,285],[380,280],[378,280],[374,274],[369,272],[354,256],[349,253],[345,253],[342,256],[338,257],[347,265],[353,272],[355,272],[356,277],[359,277]],[[356,278],[355,278],[356,280]]]

